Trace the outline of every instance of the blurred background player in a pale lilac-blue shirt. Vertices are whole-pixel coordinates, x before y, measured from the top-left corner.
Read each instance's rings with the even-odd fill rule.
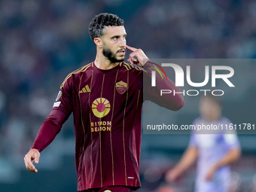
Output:
[[[194,125],[231,123],[227,117],[221,116],[221,103],[215,96],[200,99],[200,114]],[[229,164],[239,156],[239,140],[232,130],[206,130],[204,134],[192,131],[187,150],[177,165],[166,173],[166,180],[175,181],[198,158],[195,191],[226,192],[230,181]]]

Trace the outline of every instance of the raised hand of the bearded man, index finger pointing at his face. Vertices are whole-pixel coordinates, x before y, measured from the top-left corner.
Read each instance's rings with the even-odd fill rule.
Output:
[[[143,67],[144,64],[149,60],[148,56],[146,56],[141,49],[136,49],[128,45],[126,45],[126,49],[133,51],[133,53],[130,53],[130,58],[127,59],[128,62],[130,62],[132,65],[136,64],[140,67]]]

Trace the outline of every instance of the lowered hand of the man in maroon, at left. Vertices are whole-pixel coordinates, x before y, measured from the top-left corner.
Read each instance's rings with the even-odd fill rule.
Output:
[[[35,169],[35,166],[33,165],[34,161],[35,163],[39,163],[39,157],[40,153],[37,149],[32,148],[29,153],[27,153],[24,157],[24,163],[26,165],[26,169],[28,169],[31,172],[38,172],[38,169]]]

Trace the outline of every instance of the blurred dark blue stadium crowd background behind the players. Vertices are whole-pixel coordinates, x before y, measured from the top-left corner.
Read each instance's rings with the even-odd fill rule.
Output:
[[[96,48],[88,25],[102,12],[123,18],[127,44],[150,58],[256,58],[254,0],[0,0],[0,191],[76,191],[72,117],[41,153],[37,174],[26,171],[23,157],[66,75],[93,61]],[[246,72],[239,78],[248,80]],[[224,98],[224,115],[250,123],[254,93],[251,83],[236,99]],[[197,102],[186,99],[184,109],[170,113],[171,122],[191,123],[199,115]],[[142,136],[140,192],[193,191],[195,167],[173,184],[164,181],[188,139]],[[239,140],[242,158],[232,165],[230,191],[253,192],[256,136],[239,135]]]

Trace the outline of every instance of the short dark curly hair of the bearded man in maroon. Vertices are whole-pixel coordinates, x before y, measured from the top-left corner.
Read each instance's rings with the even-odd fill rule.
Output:
[[[90,22],[90,38],[99,38],[104,34],[105,26],[123,26],[123,20],[115,14],[98,14]]]

